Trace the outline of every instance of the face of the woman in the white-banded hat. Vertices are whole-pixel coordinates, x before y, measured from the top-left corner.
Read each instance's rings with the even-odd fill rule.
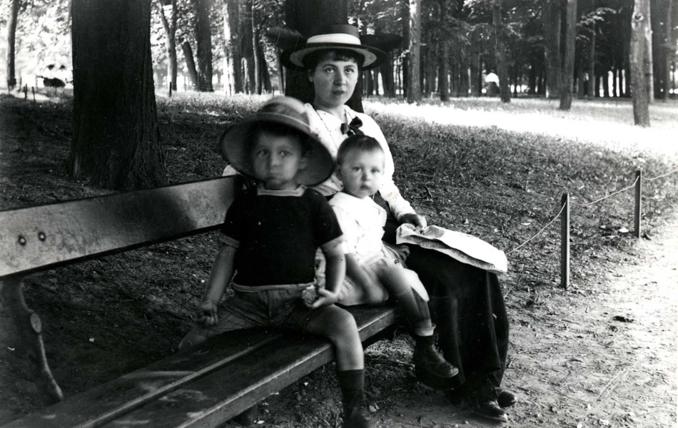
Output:
[[[308,80],[315,88],[315,106],[343,106],[353,95],[355,84],[358,83],[358,63],[353,59],[334,59],[330,56],[321,60],[315,70],[309,71]]]

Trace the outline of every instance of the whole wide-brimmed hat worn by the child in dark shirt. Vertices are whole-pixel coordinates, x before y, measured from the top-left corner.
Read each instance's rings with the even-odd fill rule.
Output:
[[[221,153],[239,173],[255,178],[251,144],[262,126],[286,128],[300,136],[306,166],[295,177],[298,184],[316,185],[330,178],[334,170],[330,152],[311,134],[303,103],[288,96],[271,98],[254,116],[231,126],[221,137]]]

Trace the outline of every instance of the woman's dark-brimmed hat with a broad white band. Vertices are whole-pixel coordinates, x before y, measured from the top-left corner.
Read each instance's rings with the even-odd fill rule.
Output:
[[[382,50],[361,43],[358,28],[348,24],[333,24],[316,31],[305,44],[284,51],[280,55],[280,62],[289,68],[306,68],[303,63],[305,56],[328,49],[348,49],[360,54],[365,58],[360,64],[363,70],[380,66],[386,61],[386,54]]]

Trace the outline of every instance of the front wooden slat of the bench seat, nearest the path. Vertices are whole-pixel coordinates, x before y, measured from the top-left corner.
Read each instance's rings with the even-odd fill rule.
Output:
[[[368,340],[396,320],[393,307],[358,307],[351,308],[351,312],[362,340]],[[103,427],[136,428],[148,421],[153,421],[154,428],[218,427],[333,360],[333,347],[326,340],[289,337],[276,340],[247,359],[236,360]]]

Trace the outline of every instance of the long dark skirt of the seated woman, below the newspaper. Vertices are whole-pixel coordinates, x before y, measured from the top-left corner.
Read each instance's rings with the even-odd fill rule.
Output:
[[[375,203],[388,205],[375,195]],[[398,223],[390,215],[384,240],[395,244]],[[485,389],[486,379],[499,387],[506,367],[509,322],[497,275],[460,263],[436,250],[409,245],[405,261],[419,275],[430,300],[438,347],[459,374],[445,388]]]

